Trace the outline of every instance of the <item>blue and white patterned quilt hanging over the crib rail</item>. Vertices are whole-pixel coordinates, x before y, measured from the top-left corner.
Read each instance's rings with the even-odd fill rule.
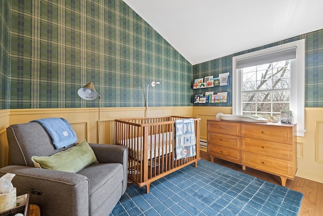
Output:
[[[175,120],[176,129],[176,159],[192,157],[196,155],[196,139],[194,119],[186,118]]]

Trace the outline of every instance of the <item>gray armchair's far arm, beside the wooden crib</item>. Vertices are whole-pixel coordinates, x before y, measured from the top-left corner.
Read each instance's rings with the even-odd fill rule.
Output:
[[[93,149],[99,163],[121,163],[123,164],[122,194],[128,185],[128,147],[108,144],[89,144]]]

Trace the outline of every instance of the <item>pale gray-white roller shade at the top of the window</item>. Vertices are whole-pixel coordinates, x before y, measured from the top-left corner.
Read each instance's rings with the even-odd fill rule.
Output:
[[[279,62],[296,58],[296,47],[280,50],[277,52],[266,53],[263,55],[253,56],[237,61],[237,69],[251,67],[255,65],[262,65],[271,62]]]

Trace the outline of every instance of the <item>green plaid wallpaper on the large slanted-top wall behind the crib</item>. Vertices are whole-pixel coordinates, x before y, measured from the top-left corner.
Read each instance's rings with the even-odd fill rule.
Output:
[[[10,108],[191,106],[192,65],[120,0],[11,1]]]

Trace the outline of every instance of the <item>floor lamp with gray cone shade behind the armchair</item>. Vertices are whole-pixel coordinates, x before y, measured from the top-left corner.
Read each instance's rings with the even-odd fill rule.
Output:
[[[84,85],[84,87],[82,87],[81,89],[79,89],[79,91],[77,91],[77,94],[83,98],[84,100],[87,101],[92,101],[94,99],[97,98],[97,96],[99,96],[99,121],[98,121],[98,125],[97,125],[97,141],[98,143],[100,143],[100,107],[101,107],[101,96],[95,91],[93,82],[89,82],[86,85]]]

